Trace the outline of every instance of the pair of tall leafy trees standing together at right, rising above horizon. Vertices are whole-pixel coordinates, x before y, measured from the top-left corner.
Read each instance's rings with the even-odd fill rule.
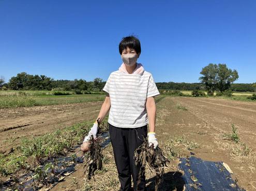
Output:
[[[206,86],[209,93],[214,93],[216,89],[220,92],[230,89],[231,83],[238,79],[238,72],[231,70],[226,64],[208,64],[200,72],[203,76],[199,79]]]

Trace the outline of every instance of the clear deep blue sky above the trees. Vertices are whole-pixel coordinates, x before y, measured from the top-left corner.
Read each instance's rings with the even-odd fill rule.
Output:
[[[225,63],[236,83],[256,82],[256,1],[0,0],[0,75],[100,77],[122,64],[131,33],[156,82],[199,82],[202,67]]]

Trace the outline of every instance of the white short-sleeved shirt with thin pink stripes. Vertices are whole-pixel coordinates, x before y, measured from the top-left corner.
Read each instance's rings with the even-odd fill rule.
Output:
[[[109,93],[111,108],[108,122],[121,128],[137,128],[148,124],[146,99],[159,95],[152,74],[112,72],[103,91]]]

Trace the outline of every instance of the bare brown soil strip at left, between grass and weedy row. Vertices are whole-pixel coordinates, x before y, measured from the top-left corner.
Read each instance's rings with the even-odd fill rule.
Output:
[[[39,136],[97,118],[103,101],[0,109],[1,152],[16,149],[22,136]],[[10,140],[10,141],[9,141]],[[11,141],[12,140],[12,141]],[[14,141],[13,141],[14,140]]]

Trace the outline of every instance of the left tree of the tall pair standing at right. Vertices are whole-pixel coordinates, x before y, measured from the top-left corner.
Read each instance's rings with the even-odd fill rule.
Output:
[[[217,71],[218,66],[216,64],[210,63],[209,65],[202,68],[200,74],[201,76],[199,80],[205,84],[206,90],[210,93],[214,93],[217,85]]]

